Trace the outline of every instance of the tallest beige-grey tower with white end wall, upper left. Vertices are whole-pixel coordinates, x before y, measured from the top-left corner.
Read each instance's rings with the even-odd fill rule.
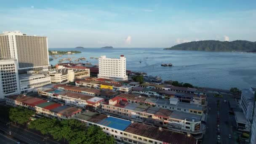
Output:
[[[49,67],[47,37],[28,36],[19,31],[0,34],[0,59],[17,59],[19,73]]]

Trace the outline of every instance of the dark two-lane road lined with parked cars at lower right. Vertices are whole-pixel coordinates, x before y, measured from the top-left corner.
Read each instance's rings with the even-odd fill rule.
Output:
[[[228,138],[228,135],[232,135],[232,128],[234,126],[232,115],[229,115],[229,105],[224,103],[224,99],[229,101],[233,99],[230,96],[223,95],[222,98],[216,98],[213,96],[213,93],[207,94],[208,107],[211,107],[211,110],[208,110],[207,116],[207,130],[203,138],[203,144],[216,144],[217,143],[217,100],[220,100],[220,136],[221,144],[235,144],[234,136],[231,136],[231,139]]]

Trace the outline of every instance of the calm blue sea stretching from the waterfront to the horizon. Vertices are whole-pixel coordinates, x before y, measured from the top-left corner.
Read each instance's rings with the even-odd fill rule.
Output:
[[[119,58],[123,54],[126,57],[127,70],[147,72],[148,75],[160,76],[163,80],[178,80],[200,87],[224,89],[256,87],[256,53],[169,51],[163,48],[50,48],[49,50],[82,51],[82,53],[63,55],[59,59],[85,57],[92,64],[98,64],[98,60],[89,57],[99,58],[106,55]],[[160,66],[162,63],[170,62],[173,67]],[[52,65],[57,63],[58,59],[50,61]]]

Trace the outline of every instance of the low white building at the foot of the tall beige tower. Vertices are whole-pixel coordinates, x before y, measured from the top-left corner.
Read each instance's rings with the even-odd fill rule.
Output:
[[[21,93],[33,91],[34,88],[51,84],[51,77],[43,74],[23,74],[19,75]]]

